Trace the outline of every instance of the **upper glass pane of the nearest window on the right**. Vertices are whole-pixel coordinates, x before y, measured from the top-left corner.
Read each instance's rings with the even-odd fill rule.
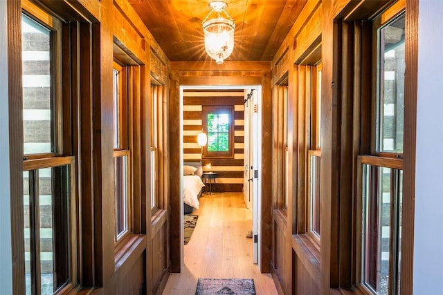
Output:
[[[379,151],[403,153],[404,15],[379,30]]]

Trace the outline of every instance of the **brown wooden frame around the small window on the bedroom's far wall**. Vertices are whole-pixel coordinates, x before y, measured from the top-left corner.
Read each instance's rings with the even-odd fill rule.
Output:
[[[203,147],[203,158],[234,158],[234,144],[235,144],[235,136],[234,136],[234,125],[235,125],[235,113],[234,106],[202,106],[201,114],[201,124],[203,128],[203,132],[208,135],[208,114],[221,114],[228,113],[229,115],[229,126],[228,126],[228,151],[208,151],[208,144]],[[209,136],[208,136],[209,137]]]

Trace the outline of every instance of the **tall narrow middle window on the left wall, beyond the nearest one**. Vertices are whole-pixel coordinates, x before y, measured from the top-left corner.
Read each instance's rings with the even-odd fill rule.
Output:
[[[129,142],[127,94],[123,88],[126,71],[114,63],[114,196],[116,241],[130,231],[129,225]]]

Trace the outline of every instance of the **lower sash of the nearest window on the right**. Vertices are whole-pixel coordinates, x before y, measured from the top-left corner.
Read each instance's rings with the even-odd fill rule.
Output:
[[[371,158],[361,159],[362,282],[374,294],[400,294],[401,160],[379,166]]]

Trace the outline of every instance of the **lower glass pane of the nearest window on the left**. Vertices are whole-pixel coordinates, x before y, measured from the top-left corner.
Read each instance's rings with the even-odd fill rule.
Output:
[[[70,278],[69,166],[25,171],[23,178],[26,294],[53,294]]]

